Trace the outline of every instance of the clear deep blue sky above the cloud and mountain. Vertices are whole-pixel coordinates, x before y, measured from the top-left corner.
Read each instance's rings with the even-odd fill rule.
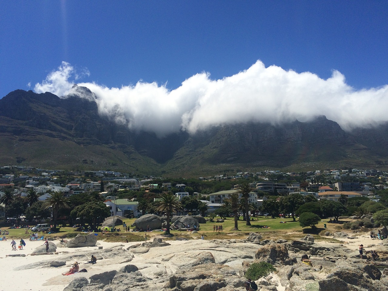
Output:
[[[3,1],[0,13],[0,97],[39,91],[62,61],[66,81],[108,88],[174,90],[257,60],[322,80],[339,71],[346,90],[388,84],[387,1]]]

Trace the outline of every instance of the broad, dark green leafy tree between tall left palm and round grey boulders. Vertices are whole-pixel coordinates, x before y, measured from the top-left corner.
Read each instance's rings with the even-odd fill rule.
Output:
[[[97,230],[100,222],[111,215],[111,211],[102,201],[90,201],[78,205],[71,211],[70,215],[80,217],[82,220],[87,221],[92,229]]]

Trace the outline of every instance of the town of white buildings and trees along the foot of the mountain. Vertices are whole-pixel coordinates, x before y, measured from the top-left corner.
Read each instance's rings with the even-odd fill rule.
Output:
[[[73,224],[76,219],[80,219],[80,215],[71,210],[78,206],[81,211],[80,205],[94,200],[103,202],[106,206],[101,210],[101,216],[137,218],[146,213],[154,213],[152,204],[163,192],[173,193],[180,200],[184,207],[182,213],[179,213],[181,215],[200,213],[203,216],[232,217],[234,211],[226,202],[236,192],[240,193],[241,199],[239,189],[244,183],[249,185],[247,198],[250,217],[294,217],[299,214],[298,207],[312,201],[340,202],[344,207],[338,213],[329,211],[327,214],[333,217],[351,216],[370,213],[371,209],[374,212],[385,209],[385,189],[388,188],[387,171],[361,169],[301,173],[265,170],[256,173],[237,172],[233,175],[223,173],[196,179],[167,179],[133,173],[130,177],[127,173],[115,171],[73,172],[28,166],[2,166],[0,171],[1,216],[5,223],[18,225],[33,224],[44,219],[49,222],[54,218],[53,215],[59,222],[62,220]],[[384,194],[383,198],[379,195],[381,193]],[[43,202],[53,199],[53,194],[67,199],[70,208],[55,210],[56,213],[53,213],[52,208],[45,209]],[[286,207],[285,203],[274,206],[273,201],[285,201],[287,197],[302,199],[292,207]],[[353,203],[347,203],[348,201]],[[360,206],[366,201],[371,201],[369,204],[372,204],[365,204],[363,210]],[[243,202],[236,212],[238,217],[243,216],[246,219]],[[317,214],[322,216],[322,213]]]

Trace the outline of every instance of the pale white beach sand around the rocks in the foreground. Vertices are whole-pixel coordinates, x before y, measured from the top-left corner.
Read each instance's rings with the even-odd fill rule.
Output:
[[[351,235],[351,234],[350,234]],[[366,250],[368,249],[368,246],[371,244],[376,244],[379,241],[372,240],[369,235],[365,234],[358,234],[353,235],[357,238],[355,239],[338,239],[341,240],[345,247],[352,249],[353,251],[358,250],[359,244],[363,244]],[[66,262],[66,266],[63,267],[52,267],[52,268],[31,268],[28,270],[15,270],[17,267],[21,267],[23,265],[28,265],[31,263],[35,263],[36,265],[39,265],[43,261],[52,260],[52,261],[61,261],[64,259],[61,259],[61,256],[63,256],[64,251],[66,252],[77,252],[77,251],[90,251],[92,253],[93,250],[97,250],[98,246],[95,247],[86,247],[86,248],[58,248],[57,251],[59,252],[58,255],[38,255],[38,256],[31,256],[30,254],[32,251],[40,246],[43,245],[42,241],[26,241],[26,246],[23,248],[23,250],[16,250],[12,251],[11,243],[12,239],[8,239],[7,241],[0,241],[0,274],[2,274],[2,282],[0,284],[0,291],[25,291],[25,290],[32,290],[32,291],[62,291],[68,283],[74,279],[74,276],[78,275],[70,275],[70,276],[62,276],[62,272],[66,272],[69,269],[69,265],[73,262]],[[54,243],[57,243],[58,241],[53,241]],[[318,244],[324,244],[328,245],[331,244],[330,242],[326,241],[315,241]],[[17,245],[19,244],[19,241],[16,241]],[[100,246],[102,246],[104,249],[111,248],[113,246],[118,246],[124,244],[125,247],[130,246],[131,244],[135,244],[135,242],[129,242],[129,243],[110,243],[110,242],[103,242],[99,241]],[[184,241],[169,241],[169,243],[175,245],[175,244],[184,244]],[[21,256],[7,256],[7,255],[15,255],[15,254],[25,254],[25,257]],[[86,262],[86,261],[85,261]],[[79,263],[85,263],[85,262],[79,262]],[[132,263],[141,263],[138,260],[133,260]],[[85,265],[88,269],[88,275],[93,274],[99,274],[101,272],[104,272],[106,269],[104,268],[104,265],[102,264],[95,264],[95,265]],[[110,265],[109,268],[111,269],[113,266]],[[80,269],[82,268],[82,265],[80,265]],[[118,265],[117,268],[120,268]],[[283,289],[283,288],[282,288]],[[279,289],[279,290],[282,290]]]

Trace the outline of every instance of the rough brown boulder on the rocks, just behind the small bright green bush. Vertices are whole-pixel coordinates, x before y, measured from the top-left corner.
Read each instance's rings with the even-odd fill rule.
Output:
[[[255,255],[256,260],[283,265],[291,264],[287,248],[284,244],[270,244],[258,249]]]

